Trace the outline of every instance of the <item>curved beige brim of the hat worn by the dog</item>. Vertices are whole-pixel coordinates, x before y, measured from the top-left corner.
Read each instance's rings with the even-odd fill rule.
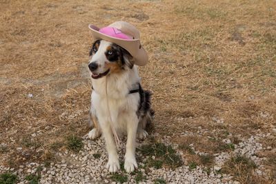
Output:
[[[88,28],[92,30],[92,35],[95,39],[103,39],[115,43],[122,48],[126,49],[131,56],[135,59],[135,65],[146,65],[148,63],[148,54],[146,50],[141,46],[139,39],[118,39],[115,37],[110,37],[106,34],[99,32],[99,28],[96,25],[88,25]]]

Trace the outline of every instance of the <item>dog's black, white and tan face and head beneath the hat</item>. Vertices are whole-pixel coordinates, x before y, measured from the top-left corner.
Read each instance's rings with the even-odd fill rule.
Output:
[[[124,72],[133,67],[133,58],[127,50],[109,41],[97,40],[90,50],[89,70],[93,79],[107,74]]]

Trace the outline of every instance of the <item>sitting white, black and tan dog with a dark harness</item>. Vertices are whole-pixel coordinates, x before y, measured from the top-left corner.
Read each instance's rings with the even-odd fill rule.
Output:
[[[119,23],[128,25],[125,22]],[[116,26],[109,26],[106,29],[114,29],[114,27]],[[120,44],[120,42],[117,42],[118,37],[116,35],[103,33],[95,27],[90,28],[115,40],[109,39],[107,41],[106,37],[102,35],[95,37],[93,34],[98,40],[92,45],[88,65],[92,73],[90,122],[93,126],[88,136],[90,139],[96,139],[103,134],[108,152],[106,167],[109,172],[117,172],[120,166],[112,132],[112,122],[110,122],[112,119],[116,132],[127,135],[124,169],[126,172],[133,172],[137,168],[135,159],[136,137],[146,138],[148,133],[144,129],[148,123],[151,123],[154,114],[150,108],[150,92],[143,90],[140,84],[136,62],[137,59],[141,62],[141,58],[133,57],[135,54],[130,54],[125,49],[128,48],[127,46],[123,48],[118,45],[117,43]],[[118,32],[124,34],[121,29],[115,28],[115,33]],[[128,38],[132,37],[131,32],[125,35]],[[120,36],[119,41],[122,40]],[[141,48],[141,45],[137,47]],[[139,65],[144,65],[144,63],[139,63]]]

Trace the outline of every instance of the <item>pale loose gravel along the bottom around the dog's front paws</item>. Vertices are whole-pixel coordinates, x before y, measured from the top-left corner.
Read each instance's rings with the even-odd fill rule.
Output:
[[[185,136],[186,133],[181,134]],[[190,134],[188,134],[190,135]],[[155,135],[156,136],[156,135]],[[221,152],[220,154],[215,154],[215,165],[207,174],[204,171],[204,167],[197,166],[195,170],[189,170],[188,165],[182,165],[177,167],[175,170],[168,168],[155,169],[153,167],[148,168],[150,172],[146,172],[143,168],[139,171],[142,172],[144,176],[144,182],[142,183],[154,183],[155,179],[163,178],[166,183],[239,183],[233,181],[233,177],[228,174],[222,174],[219,172],[221,170],[224,162],[230,159],[230,156],[235,154],[242,154],[248,156],[252,159],[258,166],[255,173],[257,175],[263,175],[265,172],[262,166],[262,161],[264,158],[259,158],[256,153],[259,150],[263,150],[262,144],[259,143],[259,139],[270,136],[270,134],[256,134],[250,136],[249,139],[243,139],[238,145],[235,145],[235,150],[233,152]],[[166,136],[163,143],[170,144],[170,136]],[[224,140],[226,143],[230,143],[229,139]],[[146,141],[144,141],[146,142]],[[138,145],[144,144],[139,142]],[[104,146],[103,139],[97,139],[96,141],[91,141],[88,136],[83,136],[83,149],[79,153],[74,154],[68,150],[64,152],[58,152],[57,156],[60,161],[56,163],[50,163],[50,166],[46,167],[40,163],[28,163],[26,165],[20,165],[17,170],[10,167],[4,167],[0,165],[0,174],[4,172],[11,172],[17,174],[19,178],[19,183],[28,183],[26,181],[26,176],[28,174],[37,174],[37,168],[41,169],[41,179],[39,183],[115,183],[112,181],[112,174],[108,173],[106,170],[107,156]],[[178,145],[172,145],[172,147],[177,148]],[[21,147],[17,147],[17,150],[21,150]],[[124,149],[125,145],[121,145],[119,148],[120,161],[124,161]],[[97,154],[97,156],[93,156]],[[137,152],[141,161],[146,161],[146,157],[140,155]],[[179,154],[183,154],[179,152]],[[200,154],[200,152],[197,152]],[[99,156],[100,155],[100,156]],[[99,158],[98,158],[99,156]],[[96,158],[97,159],[96,159]],[[155,159],[155,158],[152,158]],[[140,166],[144,166],[145,163],[139,162]],[[128,176],[128,183],[135,183],[135,174],[126,174]]]

